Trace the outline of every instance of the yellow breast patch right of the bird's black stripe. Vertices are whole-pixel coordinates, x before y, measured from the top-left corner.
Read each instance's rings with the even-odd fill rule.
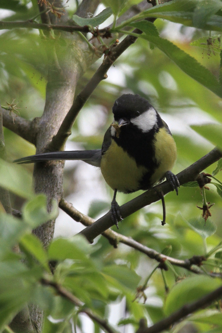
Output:
[[[165,128],[161,128],[155,134],[155,139],[155,158],[159,167],[151,176],[151,184],[155,184],[163,178],[166,171],[171,170],[176,162],[176,144]]]

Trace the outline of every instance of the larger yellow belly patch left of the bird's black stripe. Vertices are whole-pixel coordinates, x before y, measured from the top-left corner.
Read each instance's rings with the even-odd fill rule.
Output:
[[[111,140],[111,146],[102,156],[102,174],[112,189],[120,192],[134,192],[139,189],[139,181],[147,172],[144,166],[137,166],[136,162]]]

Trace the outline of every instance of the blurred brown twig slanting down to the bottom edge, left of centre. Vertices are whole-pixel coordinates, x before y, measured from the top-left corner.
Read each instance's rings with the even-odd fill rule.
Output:
[[[96,321],[106,332],[108,333],[118,332],[108,324],[107,320],[100,318],[99,316],[95,315],[91,309],[84,307],[83,302],[81,302],[76,296],[74,296],[69,290],[67,290],[60,284],[44,278],[41,279],[41,283],[43,285],[53,287],[59,295],[68,299],[74,305],[78,306],[80,308],[79,312],[87,314],[90,317],[90,319]]]

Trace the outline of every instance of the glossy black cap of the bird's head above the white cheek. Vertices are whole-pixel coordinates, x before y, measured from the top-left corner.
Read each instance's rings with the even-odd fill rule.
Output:
[[[153,109],[152,105],[145,98],[139,95],[124,94],[115,101],[112,112],[115,121],[118,121],[120,118],[130,120],[138,117],[150,108]]]

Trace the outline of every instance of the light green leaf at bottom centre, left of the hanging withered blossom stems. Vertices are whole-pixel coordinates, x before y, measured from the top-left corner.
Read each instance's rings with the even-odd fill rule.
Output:
[[[135,290],[140,281],[135,271],[129,269],[126,265],[109,265],[103,268],[103,272],[114,277],[123,286]]]

